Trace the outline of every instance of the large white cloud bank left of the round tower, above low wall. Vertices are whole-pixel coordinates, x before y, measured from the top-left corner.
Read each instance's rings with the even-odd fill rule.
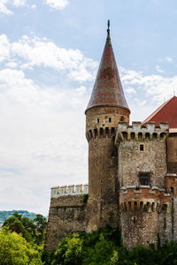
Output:
[[[22,71],[0,71],[4,209],[26,207],[47,214],[50,186],[87,182],[86,92],[83,86],[39,87]]]

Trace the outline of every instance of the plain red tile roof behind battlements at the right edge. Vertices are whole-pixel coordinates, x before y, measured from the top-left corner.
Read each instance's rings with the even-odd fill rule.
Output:
[[[146,122],[168,122],[170,128],[177,128],[177,97],[173,96],[167,102],[164,102],[157,110],[147,117],[142,124]]]

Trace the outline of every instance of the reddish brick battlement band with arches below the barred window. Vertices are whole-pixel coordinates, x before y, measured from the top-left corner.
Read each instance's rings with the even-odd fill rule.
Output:
[[[156,186],[147,187],[135,186],[122,187],[119,192],[120,211],[141,210],[146,212],[170,212],[170,193],[165,193],[165,189]]]

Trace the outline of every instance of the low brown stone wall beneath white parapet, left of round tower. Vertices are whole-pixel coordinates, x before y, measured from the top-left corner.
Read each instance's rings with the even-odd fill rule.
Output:
[[[58,242],[73,233],[86,230],[86,204],[82,195],[65,195],[50,200],[45,249],[53,250]]]

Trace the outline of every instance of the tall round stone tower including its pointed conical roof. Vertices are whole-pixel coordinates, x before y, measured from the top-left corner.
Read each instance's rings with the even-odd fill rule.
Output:
[[[110,25],[95,85],[86,110],[89,142],[87,231],[119,224],[118,158],[114,135],[119,121],[129,122],[128,109],[112,49]]]

